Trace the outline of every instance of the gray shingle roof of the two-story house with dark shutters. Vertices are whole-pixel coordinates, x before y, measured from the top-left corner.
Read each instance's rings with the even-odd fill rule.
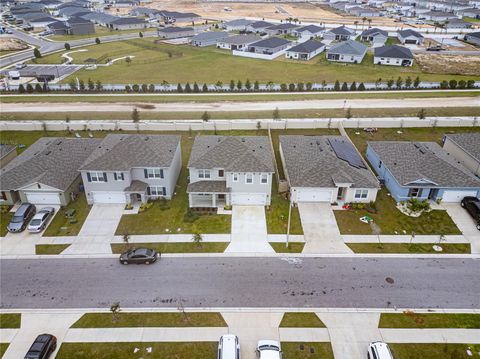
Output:
[[[82,171],[127,171],[170,167],[180,136],[109,134],[80,167]]]

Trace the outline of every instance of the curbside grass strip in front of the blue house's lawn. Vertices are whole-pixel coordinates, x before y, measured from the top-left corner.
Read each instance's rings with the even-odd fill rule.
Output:
[[[354,253],[431,253],[470,254],[469,243],[442,243],[441,252],[433,249],[436,243],[346,243]]]

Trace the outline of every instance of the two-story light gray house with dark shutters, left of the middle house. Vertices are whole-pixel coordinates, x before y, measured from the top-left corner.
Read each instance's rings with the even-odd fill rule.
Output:
[[[80,167],[87,202],[170,199],[182,167],[180,136],[110,134]]]

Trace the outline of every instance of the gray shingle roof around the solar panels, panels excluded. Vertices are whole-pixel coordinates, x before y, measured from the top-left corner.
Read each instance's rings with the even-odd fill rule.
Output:
[[[331,188],[343,182],[354,188],[379,187],[370,170],[338,158],[329,139],[348,141],[343,136],[280,136],[290,186]]]

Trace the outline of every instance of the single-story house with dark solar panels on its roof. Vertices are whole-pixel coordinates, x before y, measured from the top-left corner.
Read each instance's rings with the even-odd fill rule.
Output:
[[[379,181],[344,136],[280,136],[280,158],[294,203],[375,201]]]

